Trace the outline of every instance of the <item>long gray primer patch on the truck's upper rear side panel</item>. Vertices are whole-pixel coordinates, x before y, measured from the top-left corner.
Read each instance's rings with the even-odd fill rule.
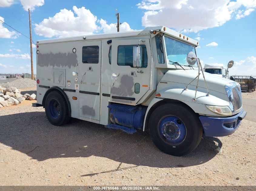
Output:
[[[77,64],[77,55],[74,53],[47,53],[47,54],[38,54],[37,64],[39,66],[53,66],[60,67],[65,66],[71,68],[71,66],[76,66]]]

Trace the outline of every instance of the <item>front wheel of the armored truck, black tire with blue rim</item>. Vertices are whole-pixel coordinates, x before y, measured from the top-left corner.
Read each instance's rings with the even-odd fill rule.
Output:
[[[169,117],[173,117],[174,120],[179,118],[180,120],[177,120],[177,122],[179,124],[181,123],[183,129],[185,126],[185,130],[183,130],[185,137],[183,138],[178,135],[178,137],[182,138],[180,142],[173,143],[174,141],[172,139],[177,137],[176,135],[176,137],[171,137],[173,134],[166,138],[168,136],[166,135],[167,126],[168,128],[176,128],[175,125],[170,125],[169,121],[163,124],[163,121],[168,120]],[[175,123],[177,124],[177,122]],[[171,121],[171,124],[174,123]],[[174,156],[182,156],[193,151],[200,143],[203,133],[198,116],[190,108],[181,103],[167,103],[156,108],[150,116],[148,128],[154,144],[164,153]],[[163,129],[165,129],[164,133],[162,132]],[[172,130],[168,129],[168,131],[173,133]],[[178,132],[181,131],[178,130]]]

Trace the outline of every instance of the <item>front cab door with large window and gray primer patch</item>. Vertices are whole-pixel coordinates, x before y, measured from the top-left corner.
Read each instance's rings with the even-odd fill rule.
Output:
[[[141,41],[140,41],[141,40]],[[141,68],[133,67],[133,46],[140,42]],[[113,40],[111,101],[136,105],[150,88],[151,48],[149,39]]]

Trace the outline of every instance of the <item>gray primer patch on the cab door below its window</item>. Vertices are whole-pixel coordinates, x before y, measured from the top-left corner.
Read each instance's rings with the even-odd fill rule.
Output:
[[[111,88],[111,94],[119,95],[121,97],[132,96],[134,94],[134,82],[133,77],[123,75],[121,78],[121,84],[118,88]]]

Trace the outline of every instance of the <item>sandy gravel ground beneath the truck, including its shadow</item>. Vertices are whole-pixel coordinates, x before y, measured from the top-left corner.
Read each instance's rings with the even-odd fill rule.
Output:
[[[256,185],[256,123],[248,120],[230,136],[203,136],[183,157],[162,153],[145,132],[78,119],[53,126],[30,104],[0,110],[0,121],[0,185]]]

